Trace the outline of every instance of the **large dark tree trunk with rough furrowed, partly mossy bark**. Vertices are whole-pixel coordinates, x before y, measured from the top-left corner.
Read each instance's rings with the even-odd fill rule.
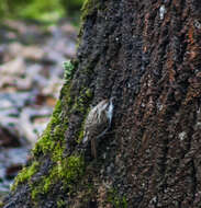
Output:
[[[52,120],[4,208],[201,207],[201,1],[88,0]],[[97,159],[91,106],[115,97]]]

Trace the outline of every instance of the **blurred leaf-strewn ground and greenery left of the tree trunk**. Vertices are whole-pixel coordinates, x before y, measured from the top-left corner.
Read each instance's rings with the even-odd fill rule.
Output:
[[[83,0],[0,0],[0,204],[46,127]]]

